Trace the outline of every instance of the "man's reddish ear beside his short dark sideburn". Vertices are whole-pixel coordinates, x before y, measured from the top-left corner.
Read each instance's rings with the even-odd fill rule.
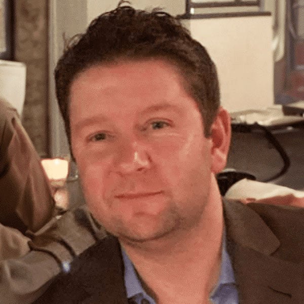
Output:
[[[221,106],[211,125],[211,171],[216,174],[224,169],[227,162],[231,139],[231,119],[227,110]]]

